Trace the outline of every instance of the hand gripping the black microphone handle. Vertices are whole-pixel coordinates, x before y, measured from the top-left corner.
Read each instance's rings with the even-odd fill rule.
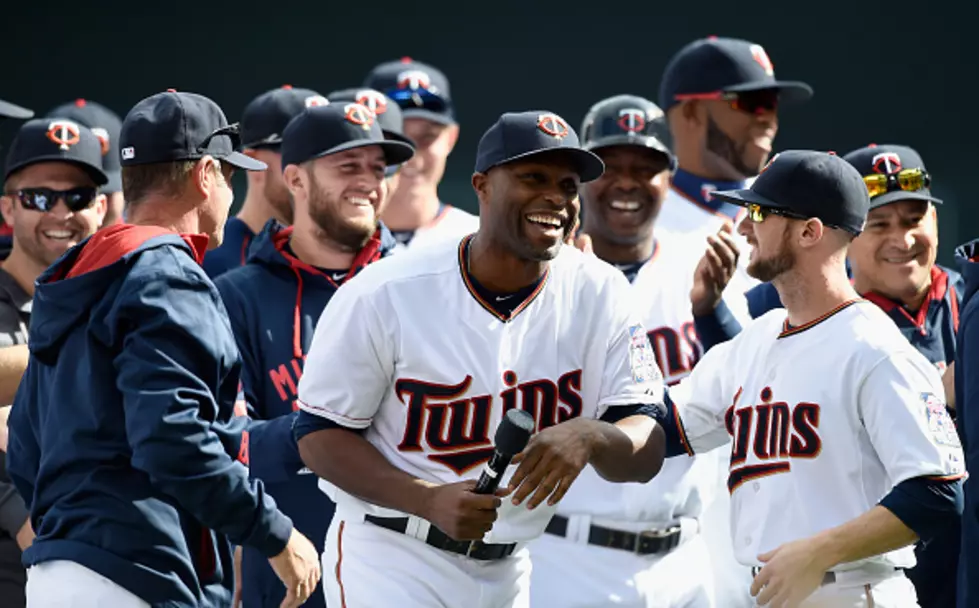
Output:
[[[476,494],[475,481],[432,486],[422,517],[454,540],[480,540],[493,527],[500,495]]]

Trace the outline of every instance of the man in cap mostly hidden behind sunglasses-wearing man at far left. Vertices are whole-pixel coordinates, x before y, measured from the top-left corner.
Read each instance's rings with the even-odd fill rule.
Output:
[[[49,118],[67,118],[84,125],[95,133],[102,146],[102,168],[109,182],[100,188],[106,196],[105,219],[102,226],[123,221],[125,201],[122,197],[122,178],[119,171],[119,130],[122,119],[109,108],[86,99],[61,104],[48,112]]]

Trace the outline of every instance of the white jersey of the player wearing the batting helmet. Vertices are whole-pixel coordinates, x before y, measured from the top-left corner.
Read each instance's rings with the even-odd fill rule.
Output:
[[[703,356],[690,304],[694,271],[706,244],[697,246],[657,230],[656,249],[632,282],[632,297],[667,385],[690,374]],[[740,294],[730,308],[738,321],[751,317]],[[558,505],[558,513],[587,513],[616,522],[663,527],[679,517],[699,517],[717,491],[721,451],[695,458],[670,458],[644,484],[611,484],[586,467]]]

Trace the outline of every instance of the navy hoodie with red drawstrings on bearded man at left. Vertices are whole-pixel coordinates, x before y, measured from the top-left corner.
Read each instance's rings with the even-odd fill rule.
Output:
[[[292,435],[296,387],[306,351],[323,309],[338,286],[396,246],[382,227],[357,255],[350,269],[314,268],[293,255],[292,228],[269,221],[249,248],[248,263],[221,275],[221,292],[242,358],[241,392],[252,419],[248,460],[251,474],[265,482],[269,494],[296,529],[323,552],[333,503],[305,469]],[[278,607],[285,588],[261,554],[246,548],[242,562],[245,608]],[[306,606],[323,606],[313,593]]]

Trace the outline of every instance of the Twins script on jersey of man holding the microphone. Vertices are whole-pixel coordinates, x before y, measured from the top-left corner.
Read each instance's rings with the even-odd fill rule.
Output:
[[[643,335],[645,339],[645,335]],[[463,474],[493,454],[490,419],[495,418],[493,395],[468,395],[472,376],[458,384],[437,384],[401,378],[394,391],[408,408],[402,452],[431,452],[429,460]],[[507,386],[499,394],[503,414],[519,408],[529,412],[537,430],[581,415],[581,370],[570,371],[557,382],[547,379],[519,382],[516,372],[503,373]]]

